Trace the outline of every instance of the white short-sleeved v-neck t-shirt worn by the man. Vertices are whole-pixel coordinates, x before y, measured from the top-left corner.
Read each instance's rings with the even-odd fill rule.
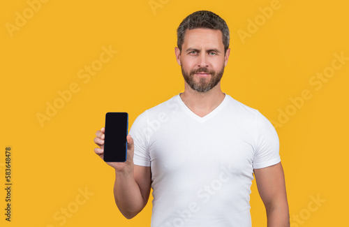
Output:
[[[279,138],[231,96],[205,117],[179,95],[135,119],[133,161],[151,166],[152,227],[251,227],[253,168],[279,163]]]

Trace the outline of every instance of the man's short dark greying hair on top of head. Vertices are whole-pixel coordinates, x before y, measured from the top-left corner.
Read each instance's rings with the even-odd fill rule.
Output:
[[[230,40],[229,28],[225,21],[216,15],[216,13],[200,10],[188,15],[181,24],[179,24],[177,29],[177,46],[179,50],[181,50],[181,45],[183,45],[186,29],[221,30],[223,35],[224,54],[227,52]]]

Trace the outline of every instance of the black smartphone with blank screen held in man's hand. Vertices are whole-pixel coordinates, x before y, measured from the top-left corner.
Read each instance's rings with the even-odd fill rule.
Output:
[[[127,158],[128,113],[105,114],[104,155],[107,162],[124,162]]]

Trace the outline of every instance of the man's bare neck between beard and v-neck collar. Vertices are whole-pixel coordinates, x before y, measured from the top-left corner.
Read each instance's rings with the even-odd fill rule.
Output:
[[[206,92],[195,91],[186,84],[184,92],[179,95],[186,106],[199,117],[208,115],[225,98],[225,94],[221,91],[221,82]]]

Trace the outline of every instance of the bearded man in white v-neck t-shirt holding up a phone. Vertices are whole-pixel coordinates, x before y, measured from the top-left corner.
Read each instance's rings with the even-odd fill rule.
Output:
[[[138,116],[127,136],[127,161],[108,163],[120,212],[135,217],[152,188],[151,226],[251,226],[254,173],[268,226],[290,226],[274,127],[221,91],[228,26],[198,11],[181,22],[177,36],[184,92]],[[96,136],[103,158],[104,128]]]

